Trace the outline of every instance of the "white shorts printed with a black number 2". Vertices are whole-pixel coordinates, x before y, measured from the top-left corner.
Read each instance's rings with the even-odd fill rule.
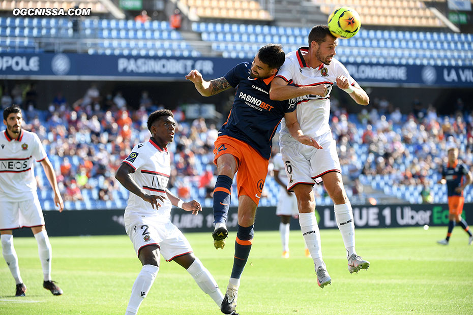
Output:
[[[161,255],[166,261],[192,253],[191,244],[181,230],[170,221],[156,222],[153,217],[133,215],[128,217],[130,224],[125,226],[136,255],[147,245],[158,245]]]

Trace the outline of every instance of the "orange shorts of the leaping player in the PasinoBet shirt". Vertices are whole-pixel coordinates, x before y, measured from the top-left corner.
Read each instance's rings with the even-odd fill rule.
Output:
[[[264,180],[268,174],[269,161],[264,159],[251,145],[228,136],[220,136],[215,141],[214,164],[222,154],[231,154],[237,160],[238,197],[250,197],[259,204]]]

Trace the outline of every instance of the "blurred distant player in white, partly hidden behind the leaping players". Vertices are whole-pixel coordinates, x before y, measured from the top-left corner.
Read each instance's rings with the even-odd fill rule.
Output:
[[[279,223],[279,234],[282,244],[282,258],[289,258],[289,231],[291,217],[299,218],[297,198],[287,190],[287,177],[284,171],[284,162],[281,153],[273,155],[274,180],[281,186],[279,188],[279,200],[276,206],[276,215],[281,218]],[[310,257],[309,249],[305,249],[306,257]]]

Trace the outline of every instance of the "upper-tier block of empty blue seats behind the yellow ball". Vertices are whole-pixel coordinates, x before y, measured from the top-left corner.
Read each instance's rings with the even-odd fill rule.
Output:
[[[253,58],[265,43],[281,43],[286,52],[307,46],[307,27],[194,22],[192,29],[223,57]],[[473,36],[429,31],[361,29],[356,38],[339,40],[340,61],[374,64],[473,64]]]

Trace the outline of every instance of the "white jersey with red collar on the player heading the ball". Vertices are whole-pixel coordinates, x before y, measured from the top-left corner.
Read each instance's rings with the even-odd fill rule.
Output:
[[[330,65],[321,64],[317,69],[309,67],[303,57],[307,52],[308,47],[302,47],[288,53],[276,78],[282,78],[289,82],[288,84],[295,86],[315,86],[319,84],[327,86],[327,96],[310,94],[290,100],[291,104],[297,105],[297,117],[304,135],[318,137],[330,131],[329,99],[337,77],[347,77],[350,85],[354,85],[355,81],[345,66],[335,58],[332,58]],[[281,123],[280,136],[283,134],[289,134],[285,122]]]

